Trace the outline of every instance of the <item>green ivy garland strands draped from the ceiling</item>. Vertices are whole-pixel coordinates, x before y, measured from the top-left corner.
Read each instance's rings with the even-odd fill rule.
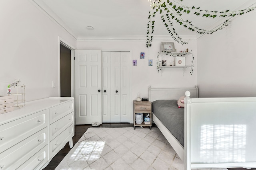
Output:
[[[170,2],[172,1],[172,2]],[[182,0],[180,0],[182,1]],[[238,11],[208,11],[208,10],[201,10],[200,7],[188,7],[183,4],[180,4],[179,2],[175,2],[174,0],[154,0],[154,2],[151,1],[151,10],[149,12],[149,22],[147,24],[147,41],[146,41],[146,47],[151,47],[152,45],[152,39],[153,36],[152,34],[154,33],[154,23],[155,21],[153,18],[155,17],[156,13],[161,14],[161,20],[164,23],[166,30],[170,33],[172,38],[184,45],[187,44],[188,42],[183,41],[176,30],[174,29],[173,22],[175,21],[179,23],[179,25],[184,26],[190,31],[196,31],[198,34],[212,34],[218,30],[224,29],[228,24],[230,24],[229,19],[224,21],[222,24],[220,24],[217,28],[212,29],[212,30],[206,30],[202,29],[200,27],[197,27],[192,24],[192,21],[189,20],[184,20],[181,18],[182,15],[188,15],[188,14],[194,14],[196,16],[202,16],[206,18],[216,18],[216,17],[223,17],[223,18],[228,18],[228,17],[235,17],[239,16],[245,13],[248,13],[250,11],[253,11],[256,7],[251,7],[251,8],[246,8],[244,10],[238,10]]]

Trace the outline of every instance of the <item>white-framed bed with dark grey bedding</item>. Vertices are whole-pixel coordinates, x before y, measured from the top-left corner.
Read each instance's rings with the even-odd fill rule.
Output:
[[[176,105],[180,96],[186,96],[184,108]],[[149,87],[148,98],[152,120],[186,170],[256,167],[256,97],[198,98],[196,86]]]

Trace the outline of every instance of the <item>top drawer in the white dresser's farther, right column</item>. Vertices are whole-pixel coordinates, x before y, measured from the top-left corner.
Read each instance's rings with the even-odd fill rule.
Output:
[[[58,119],[74,111],[73,107],[74,106],[72,101],[60,104],[58,106],[50,107],[49,109],[50,124],[52,124]]]

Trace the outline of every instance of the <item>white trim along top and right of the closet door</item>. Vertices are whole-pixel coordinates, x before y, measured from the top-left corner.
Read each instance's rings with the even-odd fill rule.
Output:
[[[130,123],[133,123],[133,100],[132,100],[132,49],[108,49],[102,52],[130,52]]]

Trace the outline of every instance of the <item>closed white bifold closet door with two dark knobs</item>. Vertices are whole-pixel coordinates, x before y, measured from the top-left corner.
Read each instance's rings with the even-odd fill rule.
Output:
[[[102,52],[102,121],[130,122],[130,52]]]

